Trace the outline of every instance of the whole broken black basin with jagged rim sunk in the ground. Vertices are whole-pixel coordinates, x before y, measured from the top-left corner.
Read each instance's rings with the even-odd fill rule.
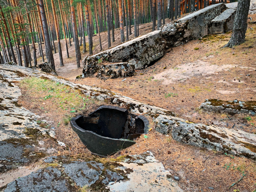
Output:
[[[88,117],[72,118],[70,124],[93,154],[106,157],[135,144],[134,138],[147,133],[149,121],[143,115],[104,105]]]

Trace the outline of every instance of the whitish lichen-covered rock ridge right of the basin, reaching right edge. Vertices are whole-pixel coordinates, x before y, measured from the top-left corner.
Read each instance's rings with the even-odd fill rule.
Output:
[[[157,123],[158,132],[171,133],[175,141],[256,159],[255,134],[226,127],[193,123],[167,115],[159,115],[154,121]]]

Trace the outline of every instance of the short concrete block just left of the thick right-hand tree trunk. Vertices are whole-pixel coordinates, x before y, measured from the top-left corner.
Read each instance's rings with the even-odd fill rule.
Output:
[[[237,2],[227,3],[226,6],[230,8],[223,11],[209,23],[210,34],[226,33],[233,29]]]

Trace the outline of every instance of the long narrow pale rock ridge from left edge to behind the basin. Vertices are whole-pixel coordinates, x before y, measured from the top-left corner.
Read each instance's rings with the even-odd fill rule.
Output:
[[[30,77],[38,77],[38,78],[40,78],[40,77],[47,78],[52,81],[59,82],[64,85],[73,87],[74,89],[79,89],[82,91],[83,94],[90,96],[92,99],[93,98],[97,98],[99,100],[108,99],[110,102],[112,102],[114,104],[118,104],[120,107],[122,107],[123,105],[127,105],[127,106],[129,106],[131,113],[135,113],[135,114],[144,114],[144,113],[157,114],[158,113],[158,114],[174,115],[174,113],[171,111],[168,111],[166,109],[162,109],[159,107],[155,107],[152,105],[148,105],[146,103],[137,101],[135,99],[120,95],[114,91],[110,91],[107,89],[101,89],[99,87],[94,87],[94,86],[80,85],[80,84],[72,83],[65,79],[61,79],[56,76],[41,73],[40,71],[33,70],[33,69],[30,69],[27,67],[8,66],[8,65],[0,64],[0,77],[1,77],[1,74],[8,77],[7,78],[7,79],[9,79],[8,83],[9,82],[11,83],[13,81],[10,79],[10,77],[15,79],[15,81],[20,81],[22,79],[22,77],[24,77],[24,76],[25,77],[30,76]],[[1,80],[1,78],[0,78],[0,80]],[[8,87],[8,83],[5,87]],[[1,86],[1,84],[0,84],[0,86]],[[11,83],[11,86],[15,86],[15,85],[12,85],[12,83]],[[15,87],[17,87],[17,86],[15,86]],[[0,95],[2,93],[1,90],[2,89],[0,89]],[[10,88],[10,90],[11,90],[11,88]],[[19,91],[19,90],[17,89],[15,91]],[[3,91],[2,94],[4,94],[4,92],[5,91]],[[17,93],[17,97],[18,96],[19,96],[19,92]],[[8,97],[8,96],[6,96],[6,97]],[[5,116],[5,117],[7,117],[7,116]],[[0,123],[1,123],[1,119],[0,119]],[[1,131],[1,129],[0,129],[0,131]]]

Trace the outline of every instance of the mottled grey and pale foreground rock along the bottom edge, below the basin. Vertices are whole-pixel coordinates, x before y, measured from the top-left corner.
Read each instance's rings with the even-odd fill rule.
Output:
[[[91,186],[91,190],[96,188],[97,191],[183,191],[170,179],[169,171],[149,151],[141,155],[126,156],[123,162],[114,162],[111,170],[107,165],[96,161],[73,161],[64,163],[63,166],[61,162],[55,163],[57,167],[40,169],[10,182],[3,191],[71,192],[77,190],[75,185]]]

